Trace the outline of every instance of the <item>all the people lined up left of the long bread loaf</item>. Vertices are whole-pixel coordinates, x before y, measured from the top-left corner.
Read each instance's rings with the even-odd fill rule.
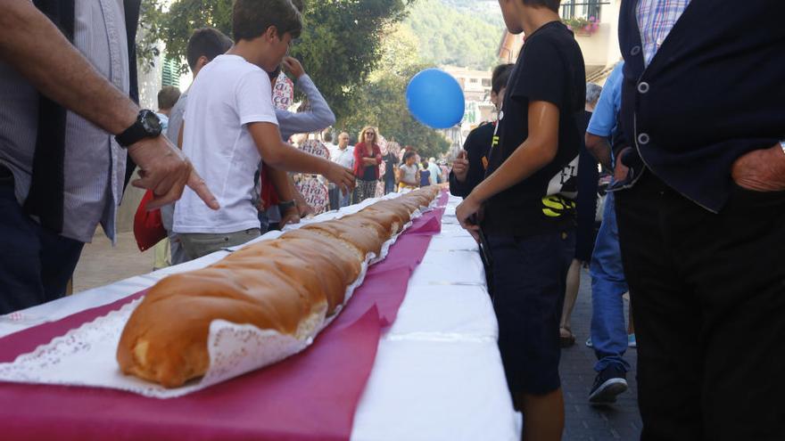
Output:
[[[154,268],[318,212],[322,207],[309,205],[294,174],[321,176],[336,193],[329,209],[398,190],[401,149],[392,142],[388,149],[376,127],[363,128],[353,146],[346,133],[332,144],[328,130],[319,136],[325,155],[292,148],[298,134],[335,124],[314,81],[288,56],[302,29],[301,0],[237,1],[233,38],[217,29],[194,31],[186,46],[194,83],[182,94],[163,87],[157,111],[135,103],[138,6],[112,4],[98,11],[109,16],[83,29],[76,23],[91,11],[73,1],[4,4],[10,24],[0,53],[0,179],[8,208],[2,231],[4,245],[22,257],[3,257],[0,275],[9,292],[0,313],[64,294],[96,225],[114,241],[128,184],[148,192],[142,211],[160,211],[167,240],[155,247]],[[128,33],[114,32],[115,23]],[[108,46],[98,44],[104,39]],[[66,55],[73,61],[66,63]],[[298,111],[260,99],[271,95],[282,70],[305,96]],[[429,184],[446,179],[434,159],[425,169],[439,170]]]

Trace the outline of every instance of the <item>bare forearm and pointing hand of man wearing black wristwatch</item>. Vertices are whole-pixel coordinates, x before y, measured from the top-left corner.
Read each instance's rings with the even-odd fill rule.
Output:
[[[110,134],[120,134],[136,121],[138,106],[103,78],[28,0],[6,0],[0,7],[0,60],[39,92]],[[178,200],[186,184],[208,206],[219,208],[191,163],[165,136],[135,143],[128,154],[140,168],[141,179],[132,184],[153,190],[148,209]]]

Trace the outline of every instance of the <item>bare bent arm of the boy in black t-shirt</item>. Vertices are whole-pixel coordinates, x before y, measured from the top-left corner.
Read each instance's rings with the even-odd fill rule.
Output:
[[[529,135],[499,168],[475,187],[469,197],[484,202],[532,176],[556,158],[558,107],[550,102],[529,103]]]

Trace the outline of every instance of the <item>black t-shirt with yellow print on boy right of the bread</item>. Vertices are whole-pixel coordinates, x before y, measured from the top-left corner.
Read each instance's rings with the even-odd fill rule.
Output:
[[[532,176],[485,203],[486,233],[532,236],[574,228],[575,185],[581,134],[578,121],[586,100],[583,54],[573,33],[560,21],[543,25],[526,38],[507,85],[487,175],[509,158],[528,137],[529,102],[558,107],[556,158]],[[574,180],[573,180],[574,183]]]

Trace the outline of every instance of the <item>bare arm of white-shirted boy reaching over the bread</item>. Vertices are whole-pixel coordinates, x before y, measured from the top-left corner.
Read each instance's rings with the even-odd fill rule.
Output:
[[[343,192],[354,188],[354,175],[330,160],[319,158],[281,141],[278,127],[269,122],[254,122],[248,125],[253,142],[259,149],[261,158],[269,167],[283,171],[312,173],[325,176],[338,185]]]

